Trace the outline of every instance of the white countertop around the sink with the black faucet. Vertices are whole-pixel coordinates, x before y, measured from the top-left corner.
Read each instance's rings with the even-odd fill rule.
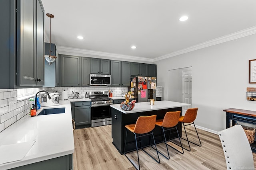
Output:
[[[43,108],[56,107],[66,107],[65,113],[35,117],[27,114],[0,132],[0,146],[36,140],[22,160],[0,164],[1,170],[74,153],[70,101],[61,100],[58,106],[42,107],[37,114]]]

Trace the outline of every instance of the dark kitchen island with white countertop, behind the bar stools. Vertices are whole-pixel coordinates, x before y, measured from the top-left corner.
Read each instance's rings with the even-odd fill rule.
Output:
[[[134,109],[131,111],[124,111],[120,108],[119,104],[110,105],[112,111],[112,139],[113,145],[120,152],[120,154],[124,153],[124,142],[126,135],[125,125],[136,123],[136,120],[139,116],[149,116],[156,114],[156,119],[163,119],[164,115],[168,111],[181,111],[182,107],[190,106],[190,104],[179,103],[179,102],[171,102],[171,101],[156,101],[154,105],[150,105],[150,102],[140,102],[136,103]],[[181,135],[181,123],[177,125],[179,134]],[[171,136],[172,139],[178,137],[176,131],[172,131],[173,134]],[[156,143],[161,143],[162,140],[162,131],[160,127],[156,126],[153,130]],[[169,137],[169,133],[166,136]],[[136,150],[135,139],[133,133],[127,133],[127,143],[126,152]],[[138,142],[140,147],[140,142]],[[142,147],[149,146],[148,137],[144,137],[142,139]]]

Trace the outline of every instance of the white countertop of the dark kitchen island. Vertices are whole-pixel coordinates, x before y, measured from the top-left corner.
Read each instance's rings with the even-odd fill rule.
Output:
[[[152,110],[168,109],[168,108],[183,107],[183,106],[190,106],[190,104],[171,102],[167,100],[155,101],[154,105],[150,105],[150,102],[139,102],[139,103],[135,103],[135,106],[131,111],[122,110],[119,104],[110,105],[110,107],[113,107],[114,109],[121,111],[122,113],[137,113],[142,111],[152,111]]]

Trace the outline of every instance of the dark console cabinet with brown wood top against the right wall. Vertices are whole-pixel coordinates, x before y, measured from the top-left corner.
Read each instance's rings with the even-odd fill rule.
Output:
[[[223,111],[226,111],[226,129],[235,125],[237,121],[256,125],[256,111],[234,108],[224,109]],[[256,142],[250,145],[252,151],[256,152]]]

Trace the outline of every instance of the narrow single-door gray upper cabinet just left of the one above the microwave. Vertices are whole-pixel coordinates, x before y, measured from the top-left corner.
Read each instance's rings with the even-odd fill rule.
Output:
[[[89,58],[81,58],[81,86],[90,86]]]

